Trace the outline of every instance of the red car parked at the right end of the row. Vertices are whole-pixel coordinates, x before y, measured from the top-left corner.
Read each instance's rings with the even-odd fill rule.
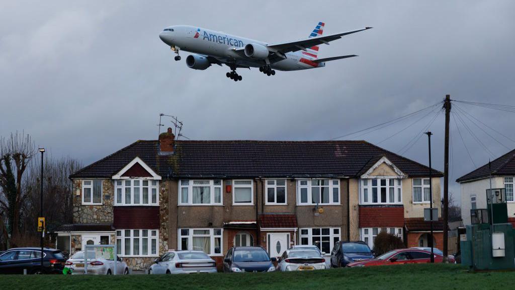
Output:
[[[442,262],[442,256],[435,254],[435,263]],[[384,253],[375,259],[352,262],[347,267],[383,266],[399,264],[431,263],[431,252],[419,249],[398,249]]]

